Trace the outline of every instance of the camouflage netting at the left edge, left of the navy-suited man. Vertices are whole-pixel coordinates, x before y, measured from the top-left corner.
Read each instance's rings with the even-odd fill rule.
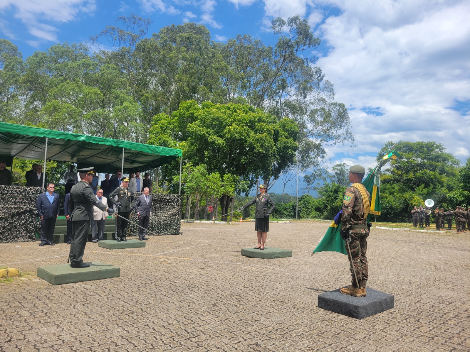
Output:
[[[41,223],[36,200],[42,187],[0,186],[0,243],[30,242]]]

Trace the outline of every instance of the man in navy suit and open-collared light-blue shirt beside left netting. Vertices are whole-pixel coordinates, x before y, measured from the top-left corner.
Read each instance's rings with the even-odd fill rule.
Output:
[[[49,183],[47,185],[47,192],[39,194],[36,201],[36,208],[41,218],[41,243],[39,246],[55,245],[52,242],[52,237],[54,235],[55,221],[57,216],[59,216],[60,199],[54,190],[55,185]]]

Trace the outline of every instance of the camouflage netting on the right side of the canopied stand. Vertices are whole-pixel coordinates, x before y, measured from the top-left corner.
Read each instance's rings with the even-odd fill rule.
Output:
[[[134,193],[135,199],[142,193]],[[179,235],[181,227],[180,196],[178,194],[150,194],[152,197],[152,216],[150,217],[149,230],[158,235]],[[132,222],[139,223],[135,212],[131,213]],[[130,223],[130,236],[139,236],[139,228]],[[155,236],[147,232],[147,236]]]

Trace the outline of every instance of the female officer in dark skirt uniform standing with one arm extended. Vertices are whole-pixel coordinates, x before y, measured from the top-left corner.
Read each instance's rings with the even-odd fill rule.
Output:
[[[259,194],[255,197],[255,199],[250,200],[248,203],[243,205],[243,207],[238,208],[238,210],[243,210],[255,203],[255,231],[258,231],[258,245],[255,247],[255,249],[263,250],[266,242],[267,232],[269,231],[269,214],[274,212],[274,208],[276,207],[274,200],[268,193],[266,193],[266,186],[264,184],[259,185]],[[268,204],[271,206],[269,209]]]

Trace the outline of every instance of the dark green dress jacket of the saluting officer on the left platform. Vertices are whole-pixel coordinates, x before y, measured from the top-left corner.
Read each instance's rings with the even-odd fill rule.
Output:
[[[93,220],[93,206],[98,207],[102,211],[106,211],[106,207],[101,203],[93,193],[93,189],[88,182],[80,181],[70,190],[69,198],[69,214],[71,221],[91,221]]]

